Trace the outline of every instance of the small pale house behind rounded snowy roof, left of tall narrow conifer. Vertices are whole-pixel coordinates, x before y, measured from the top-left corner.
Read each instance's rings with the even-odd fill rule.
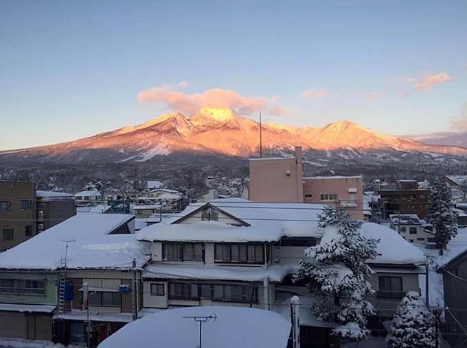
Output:
[[[409,243],[423,245],[435,249],[435,230],[432,225],[420,220],[417,214],[390,214],[391,229]]]

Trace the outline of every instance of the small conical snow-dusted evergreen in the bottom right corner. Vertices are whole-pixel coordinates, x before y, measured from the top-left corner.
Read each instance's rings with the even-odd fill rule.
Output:
[[[400,301],[386,343],[389,348],[435,347],[435,318],[417,292],[409,291]]]

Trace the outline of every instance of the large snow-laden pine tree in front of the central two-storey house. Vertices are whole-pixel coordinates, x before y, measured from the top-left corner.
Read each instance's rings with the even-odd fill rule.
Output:
[[[326,207],[319,216],[321,243],[306,249],[295,275],[317,297],[312,309],[317,319],[337,323],[333,334],[354,341],[367,336],[367,316],[374,314],[364,299],[373,293],[368,282],[373,271],[365,261],[378,255],[379,242],[363,237],[361,225],[344,210]]]

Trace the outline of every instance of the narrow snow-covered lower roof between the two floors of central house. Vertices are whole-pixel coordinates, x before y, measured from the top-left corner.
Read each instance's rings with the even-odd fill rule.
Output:
[[[216,264],[161,264],[152,263],[143,271],[143,277],[157,279],[209,279],[262,282],[267,275],[271,282],[282,279],[297,269],[297,262],[263,266],[220,266]]]

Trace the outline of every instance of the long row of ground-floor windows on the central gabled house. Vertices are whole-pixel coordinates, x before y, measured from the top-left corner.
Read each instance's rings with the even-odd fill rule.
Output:
[[[169,284],[170,299],[258,303],[258,288],[236,284]]]

